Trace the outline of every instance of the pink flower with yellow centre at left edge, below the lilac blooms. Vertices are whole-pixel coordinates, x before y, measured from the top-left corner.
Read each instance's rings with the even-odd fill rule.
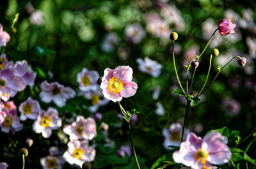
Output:
[[[2,111],[6,113],[3,123],[0,124],[2,132],[10,133],[10,131],[13,130],[14,133],[15,131],[20,131],[23,128],[23,125],[20,124],[20,119],[17,115],[17,107],[14,105],[13,101],[6,101]]]

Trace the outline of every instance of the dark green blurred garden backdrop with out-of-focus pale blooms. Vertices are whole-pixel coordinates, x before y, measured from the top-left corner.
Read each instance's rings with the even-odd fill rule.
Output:
[[[227,126],[239,130],[244,138],[255,128],[256,121],[255,9],[255,1],[247,0],[1,1],[0,23],[11,36],[3,52],[9,61],[27,60],[37,73],[35,85],[19,92],[12,100],[16,105],[28,96],[40,100],[40,84],[44,80],[68,85],[79,93],[76,75],[83,68],[96,70],[102,77],[105,68],[129,65],[138,91],[121,103],[125,110],[136,108],[140,112],[132,123],[134,144],[141,168],[150,168],[156,159],[168,152],[164,143],[171,138],[170,135],[166,138],[163,129],[174,122],[182,124],[186,108],[186,99],[172,93],[179,85],[172,64],[170,33],[179,34],[174,52],[180,80],[185,86],[184,64],[188,65],[195,54],[202,52],[220,20],[225,18],[236,24],[236,33],[221,36],[216,32],[200,59],[193,91],[200,91],[204,84],[212,48],[218,48],[220,55],[212,59],[209,82],[216,75],[217,67],[224,66],[235,55],[245,57],[247,62],[242,67],[234,59],[221,71],[211,88],[200,96],[198,106],[190,108],[188,129],[203,137],[211,129]],[[19,20],[10,30],[16,13],[19,13]],[[143,70],[139,65],[148,59],[161,66],[154,62]],[[49,106],[57,108],[63,119],[70,119],[72,115],[95,115],[90,110],[93,102],[83,94],[70,99],[63,108],[53,103],[40,105],[45,110]],[[127,123],[118,117],[118,105],[110,101],[97,107],[96,112],[102,114],[102,119],[97,121],[98,134],[91,143],[96,149],[93,167],[136,168],[133,156],[127,152],[123,156],[119,152],[120,147],[130,145],[130,141]],[[102,122],[109,128],[102,129]],[[68,121],[63,120],[65,123]],[[28,137],[34,143],[29,148],[26,168],[42,168],[40,158],[47,156],[53,145],[64,151],[67,149],[68,138],[61,129],[45,139],[33,132],[31,122],[25,122],[24,126],[15,135],[0,133],[0,161],[6,161],[9,168],[22,165],[17,152],[26,147]],[[239,148],[246,149],[251,140]],[[251,158],[256,158],[255,146],[248,151]],[[65,163],[63,168],[77,166]]]

